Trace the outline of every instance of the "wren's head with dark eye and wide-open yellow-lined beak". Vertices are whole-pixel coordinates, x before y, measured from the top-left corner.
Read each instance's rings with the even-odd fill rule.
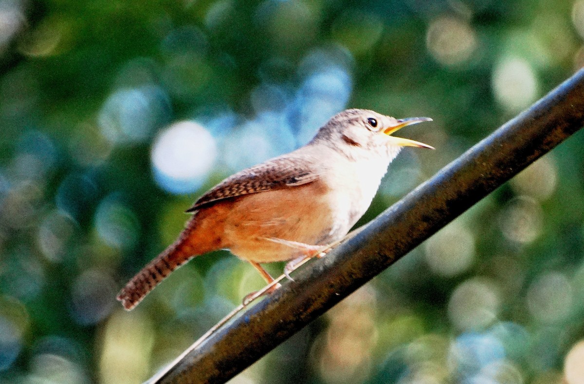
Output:
[[[317,133],[314,142],[326,141],[343,152],[352,149],[390,153],[395,156],[404,146],[430,148],[422,142],[392,136],[408,125],[432,121],[429,117],[395,118],[367,109],[347,109],[336,114]]]

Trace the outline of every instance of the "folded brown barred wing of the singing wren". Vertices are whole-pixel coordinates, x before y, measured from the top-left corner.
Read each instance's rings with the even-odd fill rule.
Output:
[[[221,181],[207,191],[186,212],[193,212],[208,207],[219,200],[300,186],[318,179],[311,159],[305,156],[286,156],[267,160],[264,163],[244,169]]]

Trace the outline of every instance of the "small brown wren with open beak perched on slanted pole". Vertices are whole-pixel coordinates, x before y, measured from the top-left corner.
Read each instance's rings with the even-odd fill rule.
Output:
[[[233,174],[186,212],[178,239],[140,270],[117,295],[131,310],[172,271],[195,256],[228,249],[268,284],[263,263],[323,256],[365,213],[388,166],[405,146],[432,146],[392,134],[427,117],[394,118],[347,109],[300,148]],[[273,289],[279,288],[279,284]]]

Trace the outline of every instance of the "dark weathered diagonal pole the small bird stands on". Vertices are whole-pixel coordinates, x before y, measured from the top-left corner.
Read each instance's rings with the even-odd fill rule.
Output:
[[[225,382],[584,125],[584,70],[190,351],[159,383]]]

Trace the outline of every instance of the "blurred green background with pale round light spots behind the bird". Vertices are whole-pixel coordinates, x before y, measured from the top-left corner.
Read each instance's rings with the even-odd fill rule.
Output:
[[[138,383],[263,286],[116,292],[229,174],[332,114],[429,116],[379,212],[584,64],[583,0],[0,0],[0,383]],[[584,382],[576,134],[232,382]],[[273,273],[281,264],[269,266]]]

